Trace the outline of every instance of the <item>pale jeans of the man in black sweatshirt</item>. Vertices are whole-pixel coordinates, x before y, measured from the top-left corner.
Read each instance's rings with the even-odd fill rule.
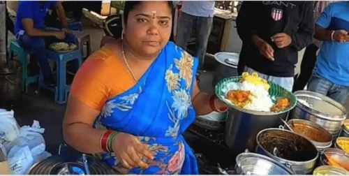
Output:
[[[245,71],[247,71],[250,75],[253,72],[258,73],[257,71],[254,71],[252,68],[248,68],[248,67],[245,67]],[[283,89],[286,89],[288,91],[292,91],[293,83],[295,82],[295,78],[293,77],[285,77],[285,78],[274,77],[274,76],[269,76],[262,73],[258,73],[258,76],[270,82],[274,82],[275,84],[283,87]]]

